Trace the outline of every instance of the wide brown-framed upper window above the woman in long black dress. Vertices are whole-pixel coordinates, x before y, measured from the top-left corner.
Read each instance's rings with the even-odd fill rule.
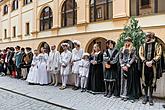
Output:
[[[112,19],[112,0],[91,0],[90,1],[90,21],[103,21]]]

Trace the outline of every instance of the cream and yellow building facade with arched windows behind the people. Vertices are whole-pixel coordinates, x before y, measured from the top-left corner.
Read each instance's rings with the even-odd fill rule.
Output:
[[[1,0],[0,48],[30,46],[33,49],[79,40],[91,52],[98,43],[117,41],[131,16],[145,32],[152,31],[165,51],[165,0]],[[158,95],[165,96],[160,80]],[[162,92],[163,91],[163,92]]]

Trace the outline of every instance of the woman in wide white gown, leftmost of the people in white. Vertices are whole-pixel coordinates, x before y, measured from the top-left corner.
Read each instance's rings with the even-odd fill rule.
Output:
[[[38,57],[38,50],[34,50],[34,56],[31,64],[31,68],[29,71],[29,74],[27,76],[26,81],[31,85],[31,84],[38,84],[39,83],[39,73],[38,73],[38,62],[39,62],[39,57]]]

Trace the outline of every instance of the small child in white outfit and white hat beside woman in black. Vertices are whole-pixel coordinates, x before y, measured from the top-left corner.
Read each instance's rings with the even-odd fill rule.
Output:
[[[82,60],[79,62],[79,74],[81,78],[81,92],[86,91],[87,79],[89,74],[89,53],[84,53]]]

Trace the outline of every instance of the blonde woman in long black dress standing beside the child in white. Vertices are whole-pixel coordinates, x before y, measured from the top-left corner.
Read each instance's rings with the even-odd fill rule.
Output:
[[[90,69],[87,83],[87,90],[90,93],[97,94],[105,91],[103,74],[103,53],[99,45],[93,46],[93,52],[90,56]]]

